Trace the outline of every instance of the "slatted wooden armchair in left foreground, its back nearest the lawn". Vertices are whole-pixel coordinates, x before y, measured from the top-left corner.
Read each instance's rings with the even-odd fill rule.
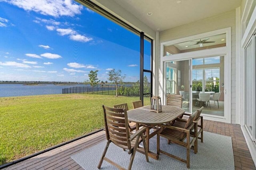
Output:
[[[148,162],[148,151],[146,148],[145,136],[143,135],[143,133],[146,131],[146,127],[142,127],[136,131],[136,133],[131,133],[129,131],[126,109],[110,108],[104,105],[102,107],[104,111],[107,145],[100,158],[98,169],[100,169],[103,160],[106,160],[108,163],[116,166],[118,169],[124,169],[122,166],[116,164],[114,161],[106,158],[105,156],[111,142],[122,149],[128,149],[128,154],[131,154],[128,170],[132,168],[136,150],[141,142],[143,142],[146,160]]]

